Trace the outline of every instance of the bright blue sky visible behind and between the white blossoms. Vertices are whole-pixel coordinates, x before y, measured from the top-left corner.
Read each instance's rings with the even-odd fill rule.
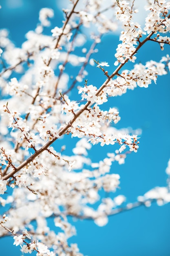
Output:
[[[81,1],[80,1],[81,2]],[[105,1],[106,2],[106,1]],[[142,2],[137,0],[136,3]],[[21,47],[27,31],[35,29],[38,23],[38,13],[42,7],[54,10],[51,29],[61,26],[63,14],[61,9],[66,7],[67,1],[60,0],[1,0],[0,28],[7,28],[10,38],[16,46]],[[64,4],[62,6],[62,4]],[[144,2],[143,2],[144,5]],[[143,8],[139,4],[139,8]],[[138,16],[143,22],[144,13]],[[49,29],[50,31],[50,29]],[[119,34],[108,34],[102,38],[102,43],[95,59],[109,63],[108,72],[115,66],[115,49],[119,43]],[[150,59],[159,61],[161,56],[170,53],[170,47],[165,45],[164,52],[158,43],[147,43],[137,54],[137,62],[145,64]],[[133,63],[126,68],[133,67]],[[91,67],[88,70],[88,82],[101,84],[105,79],[101,70]],[[137,196],[143,195],[156,186],[166,186],[167,175],[165,169],[170,158],[170,74],[161,76],[157,84],[149,88],[135,88],[121,97],[114,97],[105,103],[104,107],[117,107],[121,121],[117,128],[131,127],[142,130],[139,150],[126,158],[124,165],[113,164],[113,172],[119,173],[120,190],[115,195],[125,195],[126,202],[135,202]],[[83,82],[82,82],[83,83]],[[81,84],[80,84],[81,85]],[[71,152],[73,142],[62,141],[66,144],[68,153]],[[90,157],[93,161],[103,159],[106,152],[114,152],[115,147],[99,145],[93,146]],[[70,243],[77,243],[84,255],[88,256],[169,256],[170,255],[170,204],[158,207],[156,203],[151,207],[139,207],[128,212],[109,217],[104,227],[97,227],[91,220],[75,221],[77,236],[71,238]],[[49,222],[50,225],[50,222]],[[13,246],[13,238],[0,238],[0,251],[5,256],[20,256],[18,247]],[[34,254],[33,254],[34,255]]]

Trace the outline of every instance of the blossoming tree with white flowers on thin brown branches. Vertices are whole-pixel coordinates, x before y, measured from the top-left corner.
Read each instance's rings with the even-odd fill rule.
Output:
[[[107,1],[107,6],[102,0],[70,2],[71,8],[63,9],[62,27],[51,29],[51,35],[44,29],[53,10],[41,9],[40,24],[26,34],[21,48],[13,45],[5,29],[0,31],[0,236],[13,236],[13,245],[37,256],[82,255],[77,244],[68,243],[75,234],[68,216],[104,226],[108,216],[121,211],[155,200],[170,202],[168,186],[153,188],[125,207],[124,195],[114,197],[120,176],[113,173],[112,164],[124,164],[129,153],[137,153],[139,137],[116,129],[119,111],[103,108],[110,97],[137,86],[148,88],[157,76],[167,74],[168,55],[142,64],[137,63],[137,52],[148,41],[161,50],[170,44],[170,2],[148,3],[144,28],[133,20],[135,1]],[[108,15],[110,10],[114,16]],[[119,31],[120,24],[121,43],[109,74],[110,63],[95,60],[96,46],[104,34]],[[134,63],[131,70],[126,69],[128,62]],[[87,69],[94,66],[104,83],[89,84]],[[72,155],[64,153],[64,145],[59,149],[57,141],[63,137],[68,140],[64,144],[77,137]],[[118,149],[94,163],[88,150],[95,144]],[[170,162],[166,172],[170,174]],[[48,218],[60,232],[49,229]]]

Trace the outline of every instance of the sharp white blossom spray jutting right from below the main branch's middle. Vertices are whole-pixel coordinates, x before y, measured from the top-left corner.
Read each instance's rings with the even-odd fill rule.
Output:
[[[119,112],[115,108],[110,108],[109,111],[100,110],[97,104],[88,111],[84,111],[81,119],[77,119],[74,122],[69,132],[71,132],[72,137],[82,138],[84,136],[89,136],[90,141],[93,145],[100,143],[101,146],[114,145],[118,143],[121,145],[121,152],[126,149],[126,145],[129,146],[130,151],[137,152],[139,146],[138,137],[136,135],[124,135],[120,132],[107,131],[108,124],[113,121],[115,124],[120,120]]]

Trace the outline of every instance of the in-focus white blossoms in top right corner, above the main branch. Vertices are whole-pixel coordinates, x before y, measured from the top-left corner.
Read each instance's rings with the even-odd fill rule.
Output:
[[[168,36],[160,36],[159,33],[167,33],[170,31],[170,22],[168,12],[170,9],[170,3],[163,1],[155,1],[149,5],[146,10],[150,10],[146,18],[144,29],[137,22],[133,22],[132,16],[137,10],[132,10],[129,2],[118,1],[118,7],[116,8],[116,18],[122,22],[124,31],[121,32],[120,40],[121,44],[117,47],[117,53],[115,57],[115,65],[119,63],[125,63],[129,61],[135,62],[136,59],[136,45],[140,44],[140,40],[143,35],[157,34],[153,40],[158,42],[163,50],[163,45],[169,44],[170,39]],[[134,13],[133,13],[134,12]],[[159,32],[159,33],[158,33]],[[150,37],[149,37],[150,38]]]

